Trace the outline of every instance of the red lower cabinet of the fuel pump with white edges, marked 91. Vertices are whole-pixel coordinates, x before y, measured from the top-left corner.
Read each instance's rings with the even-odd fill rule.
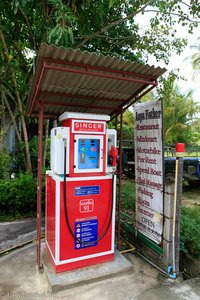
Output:
[[[66,199],[63,181],[46,178],[46,249],[55,272],[114,260],[113,176],[66,178]]]

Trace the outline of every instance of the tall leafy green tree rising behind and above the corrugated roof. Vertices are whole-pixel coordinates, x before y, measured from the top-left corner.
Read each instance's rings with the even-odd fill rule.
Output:
[[[147,29],[137,21],[141,14],[144,18],[152,14]],[[136,61],[153,54],[167,62],[172,51],[180,53],[186,44],[176,37],[174,24],[188,25],[192,32],[199,16],[194,0],[188,4],[180,0],[1,1],[0,74],[8,92],[0,97],[10,105],[11,109],[6,106],[10,117],[21,121],[27,170],[32,169],[24,114],[32,73],[27,54],[36,55],[40,44],[47,42]]]

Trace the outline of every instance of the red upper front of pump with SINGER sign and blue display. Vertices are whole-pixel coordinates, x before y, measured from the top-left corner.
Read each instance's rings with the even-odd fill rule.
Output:
[[[106,122],[71,120],[70,177],[106,174]]]

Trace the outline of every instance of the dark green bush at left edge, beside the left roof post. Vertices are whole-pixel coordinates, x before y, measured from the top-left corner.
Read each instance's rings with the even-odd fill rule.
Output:
[[[37,179],[30,174],[18,178],[0,180],[0,216],[21,217],[36,212]]]

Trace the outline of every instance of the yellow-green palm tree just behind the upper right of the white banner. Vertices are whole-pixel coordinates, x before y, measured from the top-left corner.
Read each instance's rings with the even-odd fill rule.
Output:
[[[192,98],[192,91],[183,95],[175,83],[176,76],[171,73],[162,79],[158,96],[164,105],[164,139],[165,144],[177,142],[190,143],[192,123],[200,107]]]

